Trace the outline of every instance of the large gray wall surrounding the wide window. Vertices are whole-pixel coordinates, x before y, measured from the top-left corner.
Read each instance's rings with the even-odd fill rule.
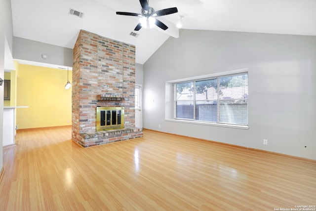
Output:
[[[167,81],[242,68],[249,129],[164,120]],[[144,128],[316,160],[315,80],[315,36],[181,30],[144,64]]]

